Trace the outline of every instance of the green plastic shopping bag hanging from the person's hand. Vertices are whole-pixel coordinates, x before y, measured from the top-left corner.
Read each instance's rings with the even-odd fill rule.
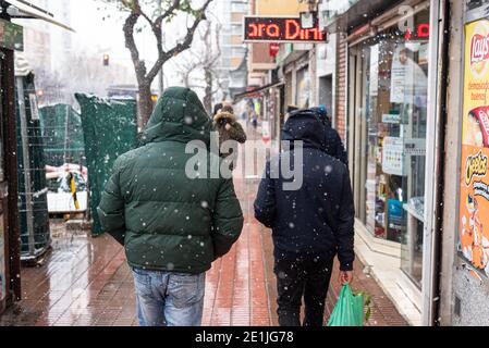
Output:
[[[364,326],[364,304],[369,306],[369,302],[370,299],[366,298],[365,294],[354,295],[350,285],[344,285],[328,326]],[[369,310],[367,311],[368,315]]]

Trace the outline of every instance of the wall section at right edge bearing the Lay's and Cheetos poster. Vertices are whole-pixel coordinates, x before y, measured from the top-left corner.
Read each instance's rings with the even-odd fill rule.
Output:
[[[441,320],[489,325],[489,4],[451,8]],[[456,82],[456,83],[455,83]]]

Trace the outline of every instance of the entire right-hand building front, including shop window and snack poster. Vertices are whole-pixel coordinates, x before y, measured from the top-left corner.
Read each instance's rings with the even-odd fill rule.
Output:
[[[356,252],[412,325],[489,324],[487,10],[360,0],[328,26]]]

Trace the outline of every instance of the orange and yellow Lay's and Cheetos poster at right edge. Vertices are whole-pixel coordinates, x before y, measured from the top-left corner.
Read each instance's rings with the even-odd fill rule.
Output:
[[[465,26],[459,252],[489,274],[489,21]]]

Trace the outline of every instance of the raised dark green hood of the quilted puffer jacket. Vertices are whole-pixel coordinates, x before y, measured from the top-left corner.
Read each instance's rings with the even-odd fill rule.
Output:
[[[212,120],[197,95],[188,88],[164,90],[142,136],[142,145],[160,141],[201,140],[209,147]]]

